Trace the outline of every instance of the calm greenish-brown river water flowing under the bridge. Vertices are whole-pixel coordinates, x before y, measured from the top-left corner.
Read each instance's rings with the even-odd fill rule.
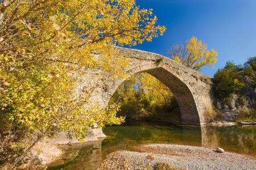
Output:
[[[149,122],[126,122],[103,129],[107,138],[97,142],[60,146],[64,155],[48,169],[97,169],[110,152],[135,150],[146,143],[224,148],[256,158],[255,126],[178,126]]]

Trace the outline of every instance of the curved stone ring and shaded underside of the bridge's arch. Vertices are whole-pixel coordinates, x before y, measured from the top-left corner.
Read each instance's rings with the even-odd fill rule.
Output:
[[[181,124],[200,125],[199,112],[197,110],[195,99],[188,86],[182,80],[177,78],[177,76],[172,74],[170,71],[164,69],[163,66],[159,66],[157,64],[142,65],[128,71],[130,76],[136,73],[148,73],[170,88],[179,106]],[[119,79],[114,82],[108,92],[109,97],[106,104],[109,103],[114,92],[126,79]]]

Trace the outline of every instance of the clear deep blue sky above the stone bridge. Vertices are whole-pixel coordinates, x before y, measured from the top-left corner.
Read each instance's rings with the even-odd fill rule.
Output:
[[[192,36],[207,42],[218,52],[215,68],[201,73],[213,76],[226,61],[244,63],[256,56],[256,0],[137,0],[141,8],[152,8],[158,24],[167,31],[152,42],[134,46],[167,56],[174,44]]]

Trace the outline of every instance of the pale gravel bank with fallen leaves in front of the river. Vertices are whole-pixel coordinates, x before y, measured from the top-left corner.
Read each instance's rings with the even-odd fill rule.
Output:
[[[139,147],[138,152],[113,152],[101,164],[99,169],[255,170],[256,160],[245,155],[234,154],[231,152],[218,153],[203,147],[182,145],[146,145]]]

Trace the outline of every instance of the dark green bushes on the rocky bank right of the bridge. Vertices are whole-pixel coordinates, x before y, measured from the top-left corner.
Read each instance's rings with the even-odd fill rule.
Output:
[[[223,112],[222,120],[253,121],[256,109],[255,66],[256,57],[248,58],[243,65],[228,61],[223,69],[214,74],[214,107]]]

